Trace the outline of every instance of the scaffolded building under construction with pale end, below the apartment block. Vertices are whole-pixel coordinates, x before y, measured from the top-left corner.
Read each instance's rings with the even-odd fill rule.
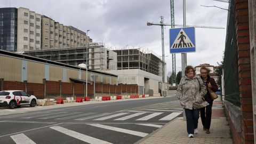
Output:
[[[116,53],[102,43],[89,43],[87,49],[85,46],[68,47],[26,51],[23,54],[74,66],[86,63],[87,59],[87,67],[92,70],[116,70],[117,68]]]

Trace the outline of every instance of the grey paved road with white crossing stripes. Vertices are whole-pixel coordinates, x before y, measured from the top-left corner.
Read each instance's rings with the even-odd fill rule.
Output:
[[[0,109],[0,143],[134,143],[182,116],[174,97],[31,109]]]

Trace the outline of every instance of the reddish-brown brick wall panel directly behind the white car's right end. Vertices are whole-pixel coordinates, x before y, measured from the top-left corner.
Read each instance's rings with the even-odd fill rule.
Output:
[[[29,94],[33,94],[37,99],[44,99],[44,85],[38,83],[27,83]]]

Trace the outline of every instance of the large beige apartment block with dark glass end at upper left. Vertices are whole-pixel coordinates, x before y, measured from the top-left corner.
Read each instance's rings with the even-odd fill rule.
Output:
[[[86,46],[92,39],[73,26],[25,7],[0,8],[0,49],[24,52]]]

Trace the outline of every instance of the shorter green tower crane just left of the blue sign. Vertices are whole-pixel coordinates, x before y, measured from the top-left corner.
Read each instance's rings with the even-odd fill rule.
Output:
[[[163,83],[165,82],[165,68],[164,68],[164,26],[167,26],[164,24],[164,17],[161,16],[161,21],[160,23],[151,23],[147,22],[147,26],[161,26],[161,32],[162,32],[162,70],[163,70]]]

